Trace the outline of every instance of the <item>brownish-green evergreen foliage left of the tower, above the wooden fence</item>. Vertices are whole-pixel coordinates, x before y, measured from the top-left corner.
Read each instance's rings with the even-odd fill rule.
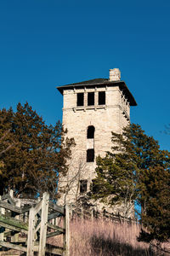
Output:
[[[60,122],[46,125],[26,102],[0,111],[1,193],[14,189],[18,196],[57,194],[59,175],[65,175],[73,139],[65,138]]]

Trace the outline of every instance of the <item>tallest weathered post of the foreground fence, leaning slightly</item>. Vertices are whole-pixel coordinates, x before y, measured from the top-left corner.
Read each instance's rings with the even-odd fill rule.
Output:
[[[48,227],[48,206],[49,206],[49,194],[46,192],[42,197],[42,218],[40,226],[40,241],[38,256],[45,256],[46,248],[46,235]]]

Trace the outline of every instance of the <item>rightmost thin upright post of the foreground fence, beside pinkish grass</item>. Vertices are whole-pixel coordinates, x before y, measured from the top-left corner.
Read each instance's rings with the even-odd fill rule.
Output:
[[[65,236],[63,237],[63,247],[65,248],[65,256],[70,255],[70,214],[69,206],[65,205]]]

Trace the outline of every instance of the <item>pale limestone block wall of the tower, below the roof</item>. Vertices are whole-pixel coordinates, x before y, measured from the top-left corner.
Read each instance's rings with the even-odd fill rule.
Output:
[[[105,91],[105,105],[98,104],[99,91]],[[84,105],[77,107],[77,93],[84,93]],[[94,92],[94,106],[88,106],[88,92]],[[76,147],[72,150],[68,175],[60,183],[70,188],[59,203],[74,202],[80,195],[80,181],[88,180],[87,189],[96,176],[96,163],[87,162],[87,149],[94,148],[95,158],[105,156],[111,150],[111,131],[122,132],[129,123],[129,104],[118,86],[108,88],[82,88],[64,90],[63,124],[67,128],[67,137],[74,137]],[[95,128],[94,139],[87,138],[88,126]]]

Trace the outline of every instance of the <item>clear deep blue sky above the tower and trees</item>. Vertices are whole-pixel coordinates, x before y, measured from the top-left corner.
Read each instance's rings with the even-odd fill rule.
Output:
[[[56,86],[118,67],[138,107],[131,121],[170,150],[170,1],[0,0],[0,108],[62,117]]]

